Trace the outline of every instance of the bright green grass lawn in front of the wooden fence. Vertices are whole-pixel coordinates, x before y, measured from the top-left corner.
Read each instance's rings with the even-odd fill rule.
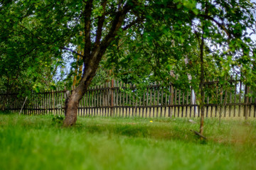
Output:
[[[206,119],[206,142],[193,120],[0,113],[0,169],[256,169],[256,120]]]

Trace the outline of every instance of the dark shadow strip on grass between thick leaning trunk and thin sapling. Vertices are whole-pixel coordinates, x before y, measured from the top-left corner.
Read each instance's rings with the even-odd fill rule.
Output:
[[[172,123],[165,120],[154,120],[152,123],[80,123],[72,127],[74,130],[89,133],[105,133],[107,135],[122,135],[127,137],[146,137],[154,140],[182,140],[183,142],[198,142],[198,137],[190,131],[191,125]]]

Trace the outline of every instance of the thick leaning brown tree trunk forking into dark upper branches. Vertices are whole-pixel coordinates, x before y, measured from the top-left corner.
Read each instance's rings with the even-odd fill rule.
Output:
[[[124,4],[122,9],[120,8],[117,11],[115,16],[113,17],[112,22],[110,23],[110,30],[105,35],[105,38],[102,38],[102,30],[103,23],[105,21],[105,14],[100,16],[97,22],[97,31],[95,35],[95,42],[92,43],[90,32],[91,32],[91,16],[92,16],[92,0],[86,2],[85,5],[85,13],[83,15],[83,19],[85,22],[85,47],[84,47],[84,55],[82,56],[82,60],[84,63],[84,70],[82,73],[82,79],[79,82],[78,87],[72,92],[72,94],[67,98],[65,102],[65,120],[63,126],[68,127],[74,125],[77,120],[77,113],[78,113],[78,105],[79,101],[81,100],[82,96],[85,94],[87,87],[90,85],[92,78],[95,77],[95,73],[97,67],[99,66],[100,60],[102,56],[105,54],[107,47],[110,43],[115,40],[119,29],[122,27],[123,21],[127,13],[133,8],[131,5],[132,2],[130,1],[127,4]],[[105,11],[105,7],[107,6],[107,1],[102,1],[103,11]],[[139,20],[138,20],[139,21]],[[134,22],[136,23],[137,20]],[[130,26],[134,25],[134,23],[121,28],[122,30],[126,30]],[[75,52],[77,55],[77,52]]]

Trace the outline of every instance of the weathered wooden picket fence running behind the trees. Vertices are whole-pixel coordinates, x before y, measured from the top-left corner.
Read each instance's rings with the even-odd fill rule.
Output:
[[[206,117],[256,116],[256,98],[249,86],[241,81],[230,80],[228,85],[220,86],[218,81],[205,83]],[[225,89],[225,90],[224,90]],[[72,91],[70,91],[72,93]],[[64,114],[67,91],[31,92],[26,98],[17,93],[0,93],[1,110],[23,114]],[[79,103],[80,116],[115,117],[199,117],[200,109],[193,88],[181,90],[169,84],[151,84],[136,87],[118,81],[87,89]]]

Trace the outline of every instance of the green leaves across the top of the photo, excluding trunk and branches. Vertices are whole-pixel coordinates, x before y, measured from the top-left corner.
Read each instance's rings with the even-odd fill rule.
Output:
[[[112,13],[117,10],[116,1],[108,3],[111,8],[105,11],[110,13],[105,16],[106,30],[109,30],[107,23],[112,19]],[[103,14],[98,1],[93,1],[93,6],[92,38]],[[137,15],[137,18],[144,18],[144,23],[119,32],[100,65],[107,68],[106,71],[112,69],[112,75],[125,83],[166,81],[171,78],[170,71],[174,71],[178,80],[171,81],[177,86],[189,83],[187,74],[193,77],[192,83],[198,84],[200,42],[197,36],[203,33],[208,68],[206,79],[224,79],[239,72],[247,84],[253,84],[255,42],[248,31],[248,28],[255,30],[253,6],[247,1],[140,1],[132,13],[127,14],[127,20],[133,21]],[[85,46],[80,35],[84,24],[80,12],[84,7],[81,1],[68,0],[61,3],[2,2],[0,19],[5,24],[1,26],[0,51],[4,86],[17,88],[19,84],[33,84],[38,90],[43,86],[53,88],[51,80],[56,68],[64,64],[61,48]],[[173,8],[178,10],[174,12]],[[77,67],[75,63],[71,65]],[[103,73],[98,74],[102,77]],[[104,74],[103,77],[112,75]]]

